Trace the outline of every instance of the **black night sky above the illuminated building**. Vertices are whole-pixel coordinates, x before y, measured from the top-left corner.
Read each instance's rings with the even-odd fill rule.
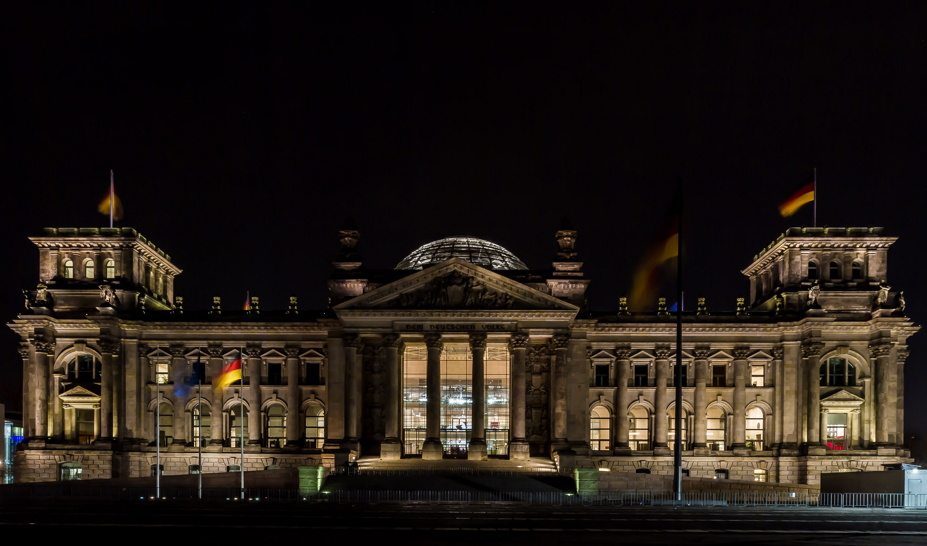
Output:
[[[384,269],[449,235],[550,267],[568,216],[590,309],[614,310],[681,176],[687,307],[730,311],[754,254],[811,225],[810,207],[777,205],[817,168],[818,224],[900,237],[888,281],[921,322],[923,3],[565,6],[6,6],[3,319],[38,280],[28,236],[107,225],[110,169],[120,224],[184,269],[186,309],[247,291],[324,308],[351,215]],[[17,339],[0,339],[15,406]],[[925,339],[908,437],[927,434]]]

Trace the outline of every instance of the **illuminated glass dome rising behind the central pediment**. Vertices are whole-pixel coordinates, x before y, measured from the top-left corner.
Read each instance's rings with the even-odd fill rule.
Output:
[[[513,253],[476,237],[448,237],[433,241],[406,256],[396,269],[422,269],[451,258],[467,260],[489,269],[527,269]]]

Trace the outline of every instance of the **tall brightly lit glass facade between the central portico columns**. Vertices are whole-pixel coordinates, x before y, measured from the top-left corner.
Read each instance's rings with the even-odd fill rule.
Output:
[[[403,452],[419,455],[427,425],[427,349],[408,345],[403,354]],[[489,346],[485,358],[487,451],[508,454],[509,356],[505,346]],[[473,428],[473,355],[466,343],[445,343],[441,351],[440,438],[449,457],[465,457]]]

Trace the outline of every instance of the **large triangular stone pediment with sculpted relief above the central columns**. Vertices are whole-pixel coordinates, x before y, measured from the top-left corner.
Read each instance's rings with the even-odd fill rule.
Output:
[[[460,258],[351,298],[334,311],[404,309],[579,311],[562,299]]]

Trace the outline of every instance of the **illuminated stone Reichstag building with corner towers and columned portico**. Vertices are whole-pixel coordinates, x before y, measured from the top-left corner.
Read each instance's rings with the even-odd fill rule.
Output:
[[[577,235],[556,231],[540,269],[455,236],[375,270],[347,225],[329,309],[236,311],[218,297],[184,309],[181,270],[133,229],[45,229],[41,280],[8,325],[24,372],[17,480],[150,476],[157,449],[165,474],[355,459],[671,474],[676,442],[689,476],[817,484],[911,462],[919,326],[886,284],[882,228],[791,228],[743,269],[736,311],[684,313],[679,438],[675,316],[588,311]],[[238,359],[242,379],[214,388]]]

